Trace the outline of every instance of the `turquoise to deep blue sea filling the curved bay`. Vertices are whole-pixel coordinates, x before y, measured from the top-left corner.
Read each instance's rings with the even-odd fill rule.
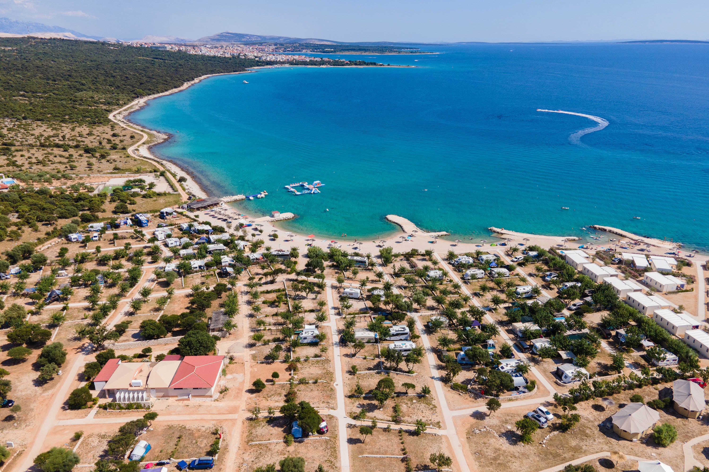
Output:
[[[425,50],[344,56],[415,67],[216,76],[131,119],[171,133],[154,151],[213,195],[267,190],[238,208],[294,212],[291,231],[373,238],[393,213],[451,238],[603,224],[709,248],[709,45]],[[569,139],[597,123],[537,108],[609,125]],[[313,180],[320,194],[283,188]]]

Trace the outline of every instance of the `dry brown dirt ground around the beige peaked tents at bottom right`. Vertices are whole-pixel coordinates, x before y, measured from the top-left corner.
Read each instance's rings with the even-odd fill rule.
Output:
[[[514,423],[523,418],[532,406],[506,408],[493,415],[476,414],[467,420],[467,438],[471,454],[475,456],[481,471],[516,471],[542,470],[556,464],[577,459],[588,454],[601,451],[623,451],[625,454],[651,459],[657,457],[674,470],[683,470],[682,444],[693,437],[706,432],[706,422],[687,420],[677,415],[674,410],[666,409],[659,412],[660,422],[669,422],[676,427],[678,439],[669,447],[658,447],[652,439],[643,438],[639,442],[620,439],[613,430],[601,425],[610,415],[615,414],[620,406],[630,403],[632,394],[640,393],[645,401],[657,398],[657,391],[652,386],[634,391],[625,391],[613,396],[615,405],[604,407],[599,399],[577,404],[576,413],[581,415],[581,421],[569,432],[556,432],[557,421],[545,430],[537,430],[532,444],[519,442],[520,435],[515,430]],[[545,405],[557,418],[563,412],[553,404]],[[475,430],[478,430],[476,432]],[[545,445],[540,444],[547,435]],[[656,454],[651,456],[650,454]]]

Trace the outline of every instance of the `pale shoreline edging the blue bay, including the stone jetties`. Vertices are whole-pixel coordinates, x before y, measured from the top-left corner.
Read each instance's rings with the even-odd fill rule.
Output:
[[[432,53],[432,54],[438,54],[438,53]],[[137,158],[137,159],[144,159],[148,161],[156,161],[157,163],[160,163],[164,168],[167,170],[171,171],[174,174],[179,174],[182,173],[184,177],[187,179],[186,182],[182,183],[184,185],[184,189],[186,192],[191,193],[191,195],[194,195],[196,198],[204,198],[210,196],[210,192],[208,192],[205,187],[206,185],[200,184],[197,181],[197,178],[191,173],[191,171],[187,171],[182,166],[179,166],[179,164],[175,163],[174,161],[170,161],[168,159],[162,159],[160,157],[155,156],[150,151],[150,148],[152,146],[157,146],[157,144],[162,144],[163,142],[166,142],[169,140],[172,135],[169,133],[165,132],[159,132],[157,130],[153,129],[148,129],[146,127],[143,127],[141,125],[136,124],[135,122],[131,121],[128,117],[132,113],[135,113],[136,111],[142,109],[147,105],[148,100],[152,100],[154,98],[160,98],[162,96],[169,96],[172,95],[173,93],[178,93],[181,91],[186,90],[190,86],[193,86],[195,84],[199,84],[199,82],[203,81],[204,79],[208,79],[213,76],[222,76],[222,75],[235,75],[235,74],[247,74],[256,71],[257,69],[272,69],[275,67],[289,67],[287,64],[283,64],[283,66],[262,66],[262,67],[253,67],[251,69],[247,69],[245,71],[237,71],[237,72],[225,72],[225,73],[220,73],[220,74],[207,74],[204,76],[199,76],[196,79],[193,79],[191,81],[185,82],[182,84],[182,86],[172,88],[169,91],[165,91],[162,93],[155,93],[150,96],[146,97],[141,97],[137,98],[136,100],[133,100],[133,102],[129,103],[128,105],[125,105],[123,108],[120,108],[118,110],[113,111],[108,115],[108,118],[114,122],[116,122],[118,125],[121,125],[123,127],[127,127],[128,129],[133,129],[136,132],[139,132],[140,134],[143,134],[143,139],[140,140],[140,142],[133,144],[133,146],[130,146],[128,148],[128,154],[131,156]],[[292,67],[292,66],[291,66]],[[295,66],[295,67],[323,67],[322,65],[313,65],[313,66]],[[352,67],[364,67],[364,66],[352,66]],[[379,66],[379,67],[400,67],[400,66]],[[415,67],[415,66],[404,66],[404,67]],[[149,137],[154,139],[152,142],[147,142]],[[135,153],[135,154],[134,154]],[[180,175],[180,176],[182,176]],[[177,184],[179,186],[179,183]],[[184,190],[182,188],[179,188],[180,193],[182,194]],[[186,200],[186,199],[185,199]],[[236,203],[236,202],[234,202]],[[225,204],[228,207],[237,210],[240,213],[244,212],[252,212],[252,209],[243,209],[240,207],[235,207],[232,205]],[[255,219],[261,220],[264,217],[254,217]],[[439,236],[448,236],[450,233],[447,231],[423,231],[418,228],[415,224],[413,224],[412,221],[400,217],[398,215],[393,215],[393,214],[388,214],[384,217],[386,221],[389,221],[391,224],[398,226],[399,229],[401,230],[402,233],[404,234],[413,234],[413,233],[419,233],[420,236],[430,236],[434,238],[438,238]],[[277,221],[273,221],[273,223],[277,223]],[[281,227],[276,226],[273,224],[274,229],[279,229],[280,231],[287,231],[286,229],[283,229]],[[608,233],[612,234],[618,234],[619,236],[623,236],[625,238],[629,238],[633,241],[638,241],[641,243],[649,244],[650,246],[656,246],[659,248],[676,248],[676,247],[681,247],[680,243],[670,243],[669,241],[661,241],[656,238],[648,238],[645,236],[640,236],[637,234],[632,234],[630,231],[624,231],[622,229],[617,229],[613,228],[611,226],[603,226],[603,225],[589,225],[589,227],[593,229],[598,229],[599,231],[607,231]],[[528,243],[531,244],[551,244],[551,245],[556,245],[556,246],[562,246],[565,245],[567,241],[579,241],[581,238],[578,236],[548,236],[548,235],[540,235],[540,234],[530,234],[530,233],[520,233],[518,231],[510,231],[506,230],[503,228],[495,228],[494,226],[490,226],[487,229],[491,231],[493,234],[491,236],[497,237],[500,239],[505,239],[506,236],[509,238],[525,238],[526,241],[529,241]],[[298,237],[303,237],[305,238],[306,235],[304,234],[299,234],[294,231],[288,231],[290,234],[294,234]],[[396,230],[393,230],[391,235],[396,234]],[[500,236],[497,236],[500,235]],[[384,238],[388,238],[390,236],[385,236]],[[398,236],[397,236],[398,237]],[[353,238],[354,239],[354,238]],[[348,240],[345,238],[345,241],[352,241]],[[445,239],[442,239],[442,241],[447,241]],[[399,241],[396,241],[399,242]],[[467,245],[469,243],[463,242],[464,245]],[[458,246],[458,244],[454,243],[451,246]],[[690,252],[690,251],[685,251],[685,252]]]

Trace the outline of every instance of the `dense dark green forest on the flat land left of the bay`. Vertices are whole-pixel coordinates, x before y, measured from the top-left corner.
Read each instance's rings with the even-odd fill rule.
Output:
[[[0,117],[97,124],[108,122],[108,113],[135,98],[168,91],[196,77],[279,63],[108,42],[3,38],[0,64]]]

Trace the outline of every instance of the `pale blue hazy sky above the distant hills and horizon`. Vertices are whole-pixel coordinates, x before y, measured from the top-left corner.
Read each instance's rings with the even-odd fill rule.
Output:
[[[0,16],[123,40],[222,31],[345,42],[709,39],[705,0],[0,0]]]

